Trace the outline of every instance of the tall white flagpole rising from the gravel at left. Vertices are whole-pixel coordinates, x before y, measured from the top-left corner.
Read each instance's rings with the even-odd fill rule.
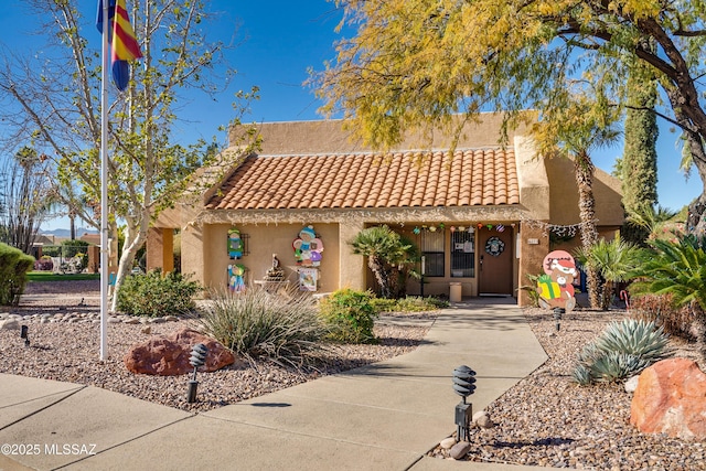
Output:
[[[100,73],[100,360],[108,358],[108,0],[103,0]]]

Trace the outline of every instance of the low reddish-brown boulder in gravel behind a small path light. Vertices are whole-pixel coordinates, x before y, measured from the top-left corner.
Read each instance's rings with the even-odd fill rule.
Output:
[[[192,329],[182,329],[169,335],[156,335],[143,343],[132,345],[125,355],[125,366],[132,373],[172,376],[193,372],[189,363],[191,350],[197,343],[208,349],[206,363],[200,371],[215,372],[235,363],[233,352],[214,339]]]

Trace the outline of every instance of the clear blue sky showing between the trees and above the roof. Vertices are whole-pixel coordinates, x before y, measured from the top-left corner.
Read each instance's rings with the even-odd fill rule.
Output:
[[[75,1],[75,0],[74,0]],[[129,2],[129,0],[128,0]],[[78,0],[87,24],[95,19],[96,0]],[[24,15],[20,0],[4,0],[0,17],[0,42],[14,51],[31,54],[42,40],[33,36],[38,21]],[[325,0],[306,1],[244,1],[212,0],[211,11],[221,12],[217,28],[210,31],[213,39],[237,44],[227,53],[228,63],[238,71],[228,90],[216,100],[205,96],[193,97],[184,107],[186,120],[181,125],[183,136],[211,138],[218,135],[220,125],[233,117],[233,94],[238,89],[260,88],[260,100],[252,106],[247,120],[290,121],[319,119],[319,104],[312,92],[302,86],[307,69],[321,69],[325,60],[334,57],[334,32],[341,13]],[[96,31],[95,29],[93,31]],[[88,34],[93,34],[90,31]],[[97,32],[96,32],[97,35]],[[98,41],[98,36],[96,36]],[[674,142],[677,135],[661,126],[659,152],[660,204],[678,210],[702,192],[697,174],[685,181],[678,170],[681,152]],[[1,132],[1,130],[0,130]],[[610,172],[622,144],[596,152],[592,157],[600,169]],[[65,227],[65,221],[55,221],[44,228]]]

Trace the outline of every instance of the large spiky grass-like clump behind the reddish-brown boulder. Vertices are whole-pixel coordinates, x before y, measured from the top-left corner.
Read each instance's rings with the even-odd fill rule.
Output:
[[[260,288],[214,291],[200,319],[205,332],[248,358],[302,365],[322,350],[327,330],[311,298],[299,291],[272,296]]]

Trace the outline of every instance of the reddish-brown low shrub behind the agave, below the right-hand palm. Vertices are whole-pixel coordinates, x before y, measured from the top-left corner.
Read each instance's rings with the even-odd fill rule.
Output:
[[[646,322],[654,322],[670,335],[687,341],[697,340],[692,329],[694,321],[703,317],[693,306],[675,306],[672,295],[643,295],[630,300],[630,315]]]

